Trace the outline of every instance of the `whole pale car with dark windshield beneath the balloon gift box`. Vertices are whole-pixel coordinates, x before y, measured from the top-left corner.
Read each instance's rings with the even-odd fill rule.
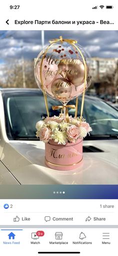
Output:
[[[75,101],[69,102],[74,104]],[[60,102],[48,98],[52,105]],[[80,115],[81,97],[78,99]],[[74,115],[70,109],[69,115]],[[85,96],[83,117],[92,128],[83,141],[78,169],[57,171],[44,164],[44,143],[35,124],[46,116],[38,89],[0,89],[0,184],[118,184],[118,111],[102,100]]]

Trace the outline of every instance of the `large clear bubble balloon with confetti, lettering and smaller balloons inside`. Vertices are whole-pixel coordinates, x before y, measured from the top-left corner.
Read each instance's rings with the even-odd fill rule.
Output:
[[[85,90],[90,85],[89,55],[76,45],[82,53],[86,67]],[[67,42],[46,46],[37,56],[34,74],[38,87],[46,94],[65,105],[84,90],[85,67],[79,51]]]

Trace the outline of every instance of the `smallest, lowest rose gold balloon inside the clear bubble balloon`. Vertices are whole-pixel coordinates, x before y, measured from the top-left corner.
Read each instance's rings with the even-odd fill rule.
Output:
[[[71,95],[71,84],[64,78],[57,78],[51,85],[51,92],[55,99],[67,102]]]

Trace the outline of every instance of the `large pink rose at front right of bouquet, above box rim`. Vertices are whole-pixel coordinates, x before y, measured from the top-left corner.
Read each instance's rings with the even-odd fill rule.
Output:
[[[79,128],[75,125],[68,126],[66,134],[69,141],[75,142],[79,137]]]

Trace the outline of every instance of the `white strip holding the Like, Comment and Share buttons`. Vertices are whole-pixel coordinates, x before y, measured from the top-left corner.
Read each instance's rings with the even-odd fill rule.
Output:
[[[9,204],[4,209],[4,203]],[[12,208],[10,208],[12,204]],[[101,205],[114,205],[114,208],[101,208]],[[37,200],[0,200],[0,225],[118,225],[117,221],[117,200],[94,200],[94,199],[37,199]],[[20,220],[13,222],[18,216]],[[22,217],[29,217],[30,221],[22,221]],[[50,216],[50,221],[44,217]],[[90,216],[90,221],[85,219]],[[56,221],[57,218],[71,218],[73,221]],[[94,221],[93,218],[105,218]]]

